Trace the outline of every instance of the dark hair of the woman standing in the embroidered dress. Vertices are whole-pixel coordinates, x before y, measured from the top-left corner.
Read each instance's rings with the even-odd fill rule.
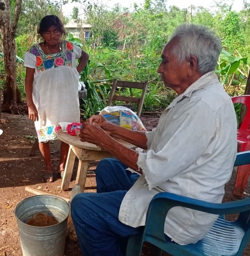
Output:
[[[56,15],[47,15],[43,17],[39,25],[38,33],[41,35],[43,32],[48,31],[51,26],[55,26],[62,35],[66,36],[65,28]]]

